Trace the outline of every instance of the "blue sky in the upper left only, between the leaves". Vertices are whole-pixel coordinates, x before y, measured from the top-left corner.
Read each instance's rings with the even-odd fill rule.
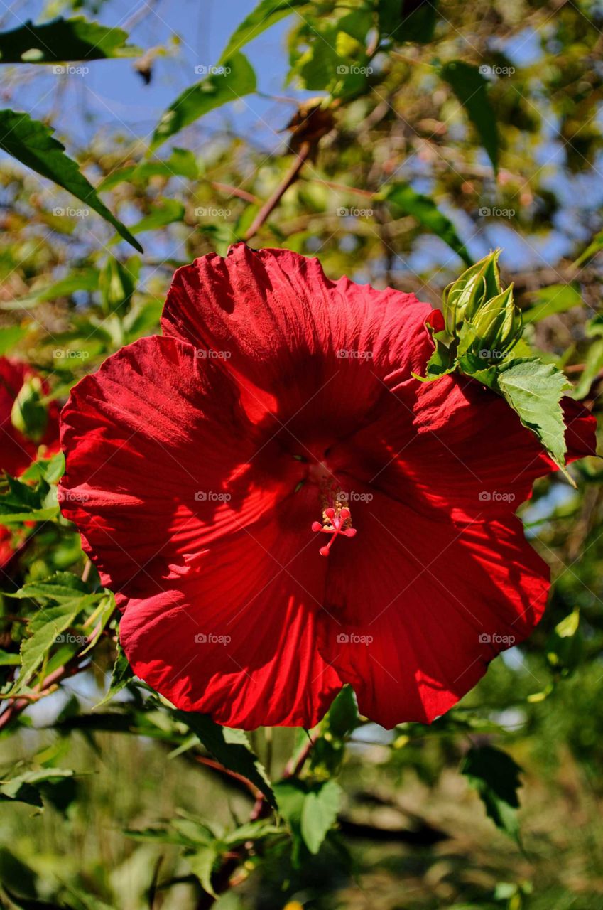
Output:
[[[256,0],[159,0],[156,4],[143,0],[134,5],[127,0],[112,0],[103,5],[96,21],[124,27],[135,20],[134,27],[128,29],[130,44],[143,49],[166,47],[166,56],[156,58],[149,86],[136,73],[135,58],[125,58],[89,61],[85,75],[56,76],[49,66],[20,65],[18,71],[17,67],[6,66],[3,87],[15,108],[38,118],[52,114],[57,136],[64,140],[74,136],[84,146],[91,133],[103,124],[114,127],[116,120],[123,126],[124,136],[147,137],[166,107],[198,80],[195,66],[216,63],[231,32],[255,5]],[[5,6],[0,24],[7,29],[22,25],[27,19],[43,21],[43,9],[40,2]],[[258,86],[268,94],[300,95],[282,86],[286,73],[285,35],[291,22],[292,17],[286,18],[246,47]],[[15,73],[15,80],[10,79],[9,73],[6,82],[5,71],[9,69]],[[252,136],[259,146],[272,148],[279,143],[277,129],[285,125],[292,110],[266,98],[246,96],[245,100],[206,116],[203,129],[211,131],[226,118],[236,132]],[[86,111],[94,120],[86,117]]]

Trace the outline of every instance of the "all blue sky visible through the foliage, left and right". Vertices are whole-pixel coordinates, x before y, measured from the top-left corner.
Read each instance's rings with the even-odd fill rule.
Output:
[[[95,16],[97,21],[126,27],[130,43],[143,49],[158,45],[166,49],[164,56],[156,57],[149,86],[136,73],[135,58],[90,61],[85,64],[89,70],[85,75],[71,76],[56,76],[49,66],[2,66],[4,105],[26,110],[38,119],[47,116],[72,155],[85,148],[93,136],[106,135],[107,141],[113,144],[116,126],[120,128],[126,150],[132,141],[139,139],[142,152],[162,113],[199,78],[195,67],[210,66],[217,61],[229,35],[255,5],[256,0],[158,0],[156,3],[138,0],[134,5],[128,0],[110,0],[101,5]],[[53,13],[61,11],[60,3],[52,7]],[[39,0],[25,0],[10,7],[0,0],[0,27],[22,25],[26,19],[42,21],[48,18],[44,16],[44,8]],[[246,45],[245,53],[256,69],[258,86],[266,94],[292,98],[308,94],[283,86],[287,67],[286,33],[296,15],[292,13]],[[132,26],[128,27],[130,23]],[[517,66],[538,62],[538,35],[524,31],[505,49]],[[282,101],[246,96],[188,127],[175,137],[175,144],[202,154],[207,137],[227,124],[256,147],[274,150],[284,142],[279,130],[286,125],[292,111],[293,106]],[[549,112],[547,116],[551,116]],[[540,163],[547,163],[548,187],[561,201],[554,229],[521,238],[504,219],[490,220],[484,224],[481,237],[468,244],[475,257],[484,255],[489,247],[503,246],[502,261],[507,260],[511,268],[541,267],[548,262],[556,263],[563,255],[571,255],[577,241],[586,242],[588,215],[603,203],[603,180],[593,172],[572,176],[565,171],[565,153],[559,144],[556,155],[552,120],[551,127],[551,136],[538,155]],[[170,143],[166,143],[159,155],[168,154],[169,149]],[[487,164],[485,153],[482,158]],[[598,168],[601,167],[599,161]],[[399,177],[409,176],[406,167],[402,167]],[[417,188],[430,192],[428,175],[426,179],[427,182],[419,179]],[[471,217],[451,210],[446,202],[442,206],[455,221],[461,236],[469,238],[474,234]],[[413,253],[415,268],[426,268],[434,257],[434,249],[437,256],[441,247],[442,242],[436,238],[421,238]]]

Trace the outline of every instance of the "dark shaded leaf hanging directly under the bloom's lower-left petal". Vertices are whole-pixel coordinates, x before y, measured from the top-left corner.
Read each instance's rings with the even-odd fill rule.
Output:
[[[276,807],[275,794],[266,776],[266,771],[256,754],[249,748],[246,734],[242,730],[231,730],[214,723],[206,714],[174,711],[176,720],[185,723],[196,733],[199,740],[212,753],[216,761],[229,771],[242,774],[251,784],[255,784],[260,793],[266,796],[269,804]]]

